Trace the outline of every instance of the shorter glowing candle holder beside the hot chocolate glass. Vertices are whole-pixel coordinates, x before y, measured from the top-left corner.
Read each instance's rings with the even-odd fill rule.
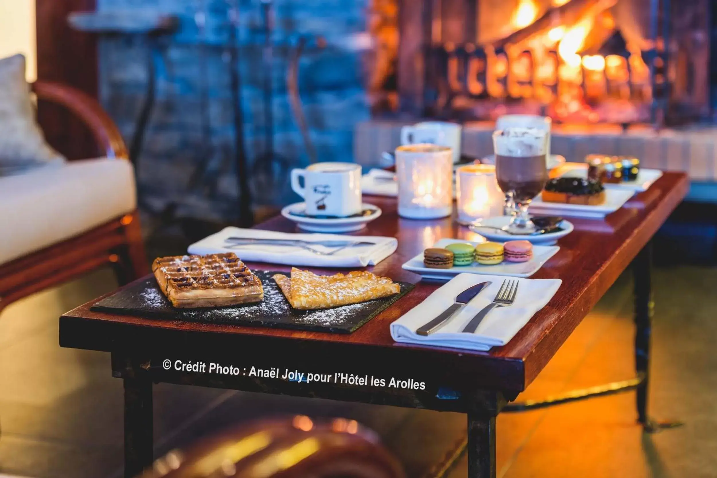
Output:
[[[505,194],[495,179],[495,166],[461,166],[455,173],[455,189],[460,224],[478,224],[482,219],[503,214]]]

